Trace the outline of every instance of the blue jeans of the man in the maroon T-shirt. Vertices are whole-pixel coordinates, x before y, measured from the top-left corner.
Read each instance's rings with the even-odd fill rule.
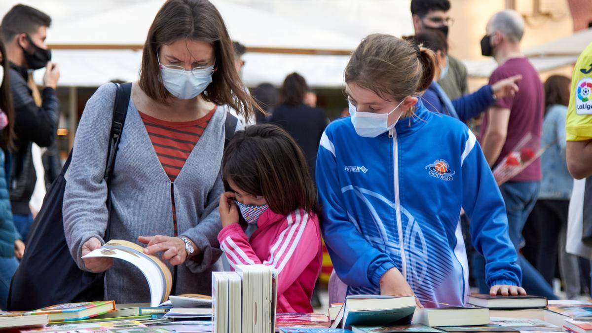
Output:
[[[535,206],[539,188],[540,182],[538,181],[509,181],[500,186],[501,196],[506,203],[510,241],[516,248],[516,252],[522,247],[522,229],[530,211]],[[522,254],[518,254],[517,264],[522,268],[522,287],[526,289],[528,294],[545,296],[547,299],[558,299],[545,278]],[[473,256],[473,274],[479,292],[489,293],[489,286],[485,283],[485,258],[477,252]]]

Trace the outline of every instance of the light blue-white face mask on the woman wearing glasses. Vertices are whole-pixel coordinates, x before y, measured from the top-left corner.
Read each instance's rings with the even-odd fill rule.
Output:
[[[162,65],[160,59],[158,63],[160,65],[162,84],[171,95],[181,100],[190,100],[197,97],[212,83],[213,65],[185,71],[181,66]]]

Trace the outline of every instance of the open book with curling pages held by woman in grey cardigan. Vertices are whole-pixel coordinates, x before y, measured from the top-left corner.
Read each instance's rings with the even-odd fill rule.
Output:
[[[173,278],[169,268],[158,257],[144,254],[140,245],[120,239],[112,239],[101,248],[82,258],[117,258],[130,262],[140,269],[150,287],[150,306],[159,306],[169,298]]]

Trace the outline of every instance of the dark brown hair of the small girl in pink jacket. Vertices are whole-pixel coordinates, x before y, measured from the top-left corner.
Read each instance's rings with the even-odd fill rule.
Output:
[[[265,197],[274,213],[287,215],[298,208],[318,213],[304,154],[278,126],[258,124],[236,132],[224,151],[222,179],[227,190],[231,180],[240,190]]]

